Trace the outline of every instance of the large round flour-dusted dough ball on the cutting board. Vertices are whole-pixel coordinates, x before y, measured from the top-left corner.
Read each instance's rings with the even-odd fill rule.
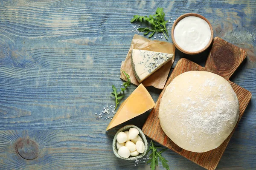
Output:
[[[207,152],[230,135],[239,117],[239,102],[230,83],[207,71],[180,74],[160,101],[160,125],[179,147]]]

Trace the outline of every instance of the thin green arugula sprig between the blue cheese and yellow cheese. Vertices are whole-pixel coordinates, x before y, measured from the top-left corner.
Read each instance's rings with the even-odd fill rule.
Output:
[[[122,72],[125,74],[125,76],[127,78],[127,82],[123,83],[122,88],[120,88],[121,91],[117,92],[116,87],[114,85],[112,85],[113,92],[111,93],[111,95],[115,97],[115,102],[116,102],[115,109],[116,109],[117,105],[119,104],[120,100],[124,97],[124,94],[125,94],[124,92],[125,92],[126,88],[128,86],[130,86],[130,83],[131,83],[129,74],[125,73],[125,71],[122,71]]]

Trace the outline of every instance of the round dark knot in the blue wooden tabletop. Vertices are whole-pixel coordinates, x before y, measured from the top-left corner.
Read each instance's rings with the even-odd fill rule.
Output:
[[[38,144],[29,139],[29,137],[25,137],[17,141],[16,148],[18,154],[27,160],[35,159],[39,155]]]

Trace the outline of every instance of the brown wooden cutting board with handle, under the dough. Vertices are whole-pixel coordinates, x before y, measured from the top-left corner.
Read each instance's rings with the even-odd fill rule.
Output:
[[[155,108],[152,109],[151,113],[148,116],[148,119],[143,126],[142,130],[145,135],[147,135],[154,141],[174,150],[175,152],[195,162],[196,164],[208,170],[214,170],[217,167],[218,162],[220,161],[221,156],[223,155],[224,150],[226,149],[227,144],[230,141],[230,138],[233,135],[236,127],[234,128],[230,136],[228,136],[228,138],[214,150],[210,150],[204,153],[195,153],[183,150],[166,136],[160,126],[160,122],[158,119],[160,99],[162,98],[166,87],[170,84],[170,82],[172,82],[172,79],[174,79],[179,74],[182,74],[186,71],[209,71],[224,77],[236,92],[239,100],[239,122],[245,108],[247,107],[252,97],[252,94],[244,88],[241,88],[239,85],[236,85],[235,83],[229,81],[229,78],[236,71],[241,62],[245,59],[246,55],[247,53],[243,49],[238,48],[235,45],[232,45],[231,43],[222,40],[219,37],[215,37],[205,67],[201,67],[195,62],[192,62],[185,58],[180,59],[177,62],[177,65],[175,66],[171,76],[167,80],[166,85],[161,92],[159,98],[157,99]]]

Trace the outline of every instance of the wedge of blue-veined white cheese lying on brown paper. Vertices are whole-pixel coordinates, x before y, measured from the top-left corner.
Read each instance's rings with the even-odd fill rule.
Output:
[[[143,82],[160,67],[169,62],[173,54],[133,49],[131,65],[138,82]]]

